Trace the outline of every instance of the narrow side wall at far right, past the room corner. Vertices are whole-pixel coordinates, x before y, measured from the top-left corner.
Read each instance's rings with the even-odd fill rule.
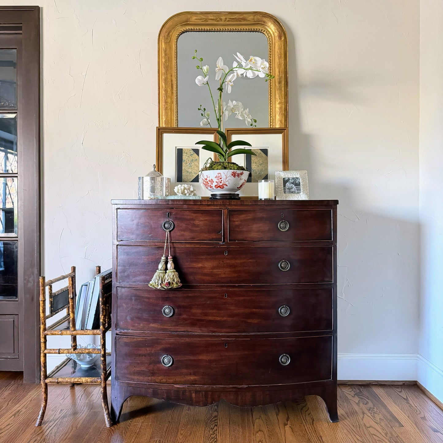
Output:
[[[421,1],[418,381],[443,401],[443,3]]]

